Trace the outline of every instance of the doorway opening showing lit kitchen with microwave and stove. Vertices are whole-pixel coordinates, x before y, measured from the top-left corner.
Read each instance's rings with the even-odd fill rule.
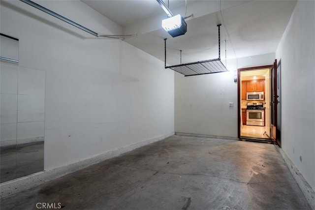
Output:
[[[238,69],[238,138],[271,142],[272,65]]]

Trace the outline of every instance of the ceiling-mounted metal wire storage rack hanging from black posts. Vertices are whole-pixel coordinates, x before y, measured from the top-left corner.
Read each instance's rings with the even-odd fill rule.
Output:
[[[218,30],[219,30],[219,58],[218,59],[201,60],[197,62],[190,62],[190,63],[183,63],[183,64],[181,63],[178,65],[166,66],[166,38],[165,38],[164,39],[165,68],[170,68],[174,71],[184,74],[185,76],[213,74],[213,73],[228,71],[226,67],[223,65],[223,63],[221,62],[220,26],[221,24],[217,25]]]

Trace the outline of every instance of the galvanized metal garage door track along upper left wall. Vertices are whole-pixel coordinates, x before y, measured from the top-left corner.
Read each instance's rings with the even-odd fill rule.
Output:
[[[50,10],[50,9],[47,9],[47,8],[45,8],[45,7],[39,5],[39,4],[37,4],[37,3],[35,3],[33,1],[31,1],[31,0],[20,0],[20,1],[22,1],[24,3],[27,3],[27,4],[35,7],[36,9],[39,9],[39,10],[41,10],[41,11],[43,11],[43,12],[49,14],[49,15],[52,15],[55,18],[58,18],[58,19],[60,19],[60,20],[62,20],[64,22],[66,22],[66,23],[68,23],[68,24],[78,28],[78,29],[84,30],[85,32],[88,32],[88,33],[90,33],[90,34],[92,34],[92,35],[94,35],[96,37],[108,37],[108,38],[119,38],[119,39],[122,39],[122,38],[128,37],[128,36],[137,36],[137,34],[132,34],[132,35],[99,35],[95,31],[90,30],[90,29],[88,29],[88,28],[86,28],[84,26],[81,26],[80,24],[77,24],[76,22],[73,22],[73,21],[63,17],[62,15],[60,15],[60,14],[58,14],[58,13],[56,13],[56,12]]]

